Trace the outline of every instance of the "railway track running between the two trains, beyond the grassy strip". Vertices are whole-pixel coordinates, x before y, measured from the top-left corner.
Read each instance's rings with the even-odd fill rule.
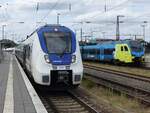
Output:
[[[150,105],[150,78],[123,73],[97,66],[84,65],[86,78],[99,85],[112,88],[140,102]]]

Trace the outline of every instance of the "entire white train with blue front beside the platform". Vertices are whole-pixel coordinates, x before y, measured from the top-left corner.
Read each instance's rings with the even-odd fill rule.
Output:
[[[36,29],[16,47],[15,54],[39,85],[77,87],[82,81],[79,43],[75,33],[65,26]]]

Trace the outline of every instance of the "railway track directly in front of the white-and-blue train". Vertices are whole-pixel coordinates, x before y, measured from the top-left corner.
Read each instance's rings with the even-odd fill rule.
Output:
[[[72,91],[40,92],[39,96],[48,113],[99,113]]]

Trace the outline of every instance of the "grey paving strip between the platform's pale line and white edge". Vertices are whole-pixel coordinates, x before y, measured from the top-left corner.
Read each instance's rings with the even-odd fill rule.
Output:
[[[13,58],[14,113],[36,113],[31,97],[25,86],[21,72]]]

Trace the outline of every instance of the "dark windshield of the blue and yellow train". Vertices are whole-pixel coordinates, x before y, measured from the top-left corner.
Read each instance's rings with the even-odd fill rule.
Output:
[[[136,51],[136,52],[140,52],[143,50],[142,44],[138,41],[131,41],[130,47],[131,47],[132,51]]]

